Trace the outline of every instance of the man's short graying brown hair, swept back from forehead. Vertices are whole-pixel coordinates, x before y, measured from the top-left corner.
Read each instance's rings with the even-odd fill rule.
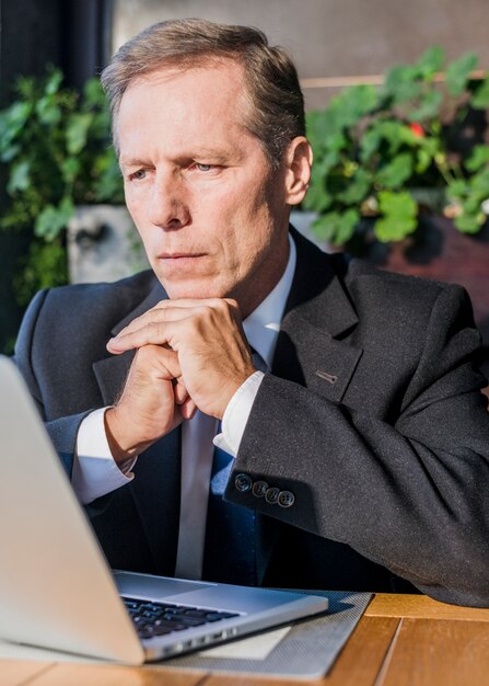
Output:
[[[200,19],[172,20],[149,26],[128,41],[102,73],[114,126],[129,83],[166,66],[191,67],[228,58],[244,68],[249,115],[245,128],[278,168],[289,142],[305,135],[304,98],[295,67],[280,46],[268,45],[258,28],[217,24]]]

